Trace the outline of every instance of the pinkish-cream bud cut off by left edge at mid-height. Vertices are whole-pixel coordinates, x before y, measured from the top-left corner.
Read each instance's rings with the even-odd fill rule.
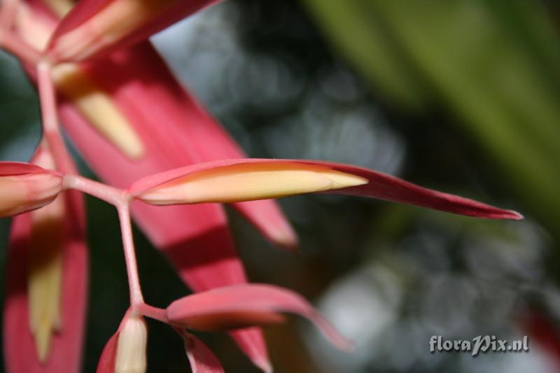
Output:
[[[0,218],[49,204],[62,190],[62,177],[48,171],[0,176]]]

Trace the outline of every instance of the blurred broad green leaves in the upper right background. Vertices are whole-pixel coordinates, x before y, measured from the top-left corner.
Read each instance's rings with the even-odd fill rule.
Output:
[[[545,4],[304,3],[391,104],[456,115],[507,191],[560,232],[560,39]]]

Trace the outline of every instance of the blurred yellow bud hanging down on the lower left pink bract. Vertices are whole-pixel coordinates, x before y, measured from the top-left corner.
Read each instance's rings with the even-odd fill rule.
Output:
[[[52,334],[62,328],[62,239],[64,199],[31,213],[28,267],[29,325],[39,360],[45,361]]]

